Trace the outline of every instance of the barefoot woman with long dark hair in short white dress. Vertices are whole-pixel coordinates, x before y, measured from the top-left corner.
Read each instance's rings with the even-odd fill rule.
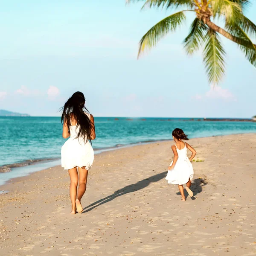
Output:
[[[88,170],[94,159],[93,148],[88,141],[96,137],[94,119],[84,104],[84,94],[74,93],[65,103],[61,116],[62,136],[64,139],[70,137],[61,148],[61,166],[70,175],[72,214],[83,211],[81,198],[86,190]]]

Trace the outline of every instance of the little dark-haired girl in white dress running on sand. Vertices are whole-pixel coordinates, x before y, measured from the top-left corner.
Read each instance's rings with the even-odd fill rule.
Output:
[[[176,128],[172,131],[172,137],[175,141],[175,144],[172,145],[174,158],[168,167],[166,180],[168,180],[170,184],[178,185],[182,197],[181,201],[186,201],[183,184],[186,183],[185,189],[192,197],[193,192],[189,189],[194,174],[191,161],[195,157],[196,151],[188,143],[182,141],[189,140],[189,138],[180,128]],[[187,148],[192,152],[190,158],[187,157]]]

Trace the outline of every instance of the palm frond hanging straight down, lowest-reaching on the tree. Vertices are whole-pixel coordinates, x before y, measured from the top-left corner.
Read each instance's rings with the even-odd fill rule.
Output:
[[[204,64],[210,83],[217,84],[224,75],[225,55],[226,53],[221,46],[217,33],[210,29],[205,36],[205,48],[203,51]]]

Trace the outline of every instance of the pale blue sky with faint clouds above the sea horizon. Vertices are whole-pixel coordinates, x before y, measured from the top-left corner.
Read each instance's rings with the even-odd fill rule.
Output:
[[[138,42],[171,12],[125,0],[0,0],[0,109],[58,116],[76,90],[94,116],[251,117],[256,70],[222,38],[227,71],[212,89],[201,53],[181,45],[193,16],[137,60]],[[256,4],[246,12],[256,23]],[[256,42],[256,40],[254,39]]]

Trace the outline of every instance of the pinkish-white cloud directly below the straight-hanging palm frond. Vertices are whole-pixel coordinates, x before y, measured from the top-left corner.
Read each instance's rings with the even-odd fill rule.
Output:
[[[221,88],[217,85],[211,85],[210,90],[205,95],[195,95],[195,99],[211,98],[211,99],[225,99],[236,101],[236,97],[228,89]]]

